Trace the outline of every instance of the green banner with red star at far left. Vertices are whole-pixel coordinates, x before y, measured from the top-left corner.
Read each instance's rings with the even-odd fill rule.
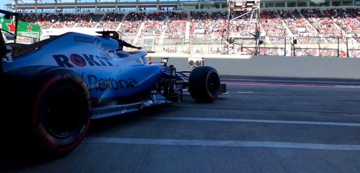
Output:
[[[10,33],[15,33],[15,20],[5,19],[0,17],[0,27],[1,29],[8,31]],[[19,21],[19,25],[17,26],[17,35],[18,36],[26,36],[32,38],[40,38],[41,28],[39,25],[21,22]]]

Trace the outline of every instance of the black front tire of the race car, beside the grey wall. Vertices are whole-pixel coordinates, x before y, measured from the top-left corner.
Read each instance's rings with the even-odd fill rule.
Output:
[[[210,103],[220,94],[220,77],[213,67],[194,68],[189,76],[189,92],[191,97],[200,103]]]

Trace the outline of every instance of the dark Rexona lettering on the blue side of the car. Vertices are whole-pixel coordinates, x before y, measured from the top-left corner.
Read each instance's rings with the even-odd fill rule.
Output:
[[[102,79],[97,78],[95,75],[88,75],[88,81],[90,91],[119,90],[134,88],[137,85],[137,81],[133,78],[116,80],[114,78]]]

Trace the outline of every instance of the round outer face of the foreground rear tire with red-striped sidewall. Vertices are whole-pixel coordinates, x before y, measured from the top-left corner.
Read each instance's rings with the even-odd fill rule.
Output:
[[[45,148],[54,154],[73,150],[90,124],[91,102],[83,80],[60,70],[41,87],[33,107],[32,124]]]

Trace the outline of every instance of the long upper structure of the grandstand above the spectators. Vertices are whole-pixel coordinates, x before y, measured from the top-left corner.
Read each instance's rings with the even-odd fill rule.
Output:
[[[320,2],[322,1],[322,2]],[[268,7],[312,7],[312,6],[353,6],[360,0],[262,0],[261,8]],[[177,9],[209,9],[209,8],[226,8],[227,0],[50,0],[40,1],[35,3],[35,0],[14,0],[13,4],[8,3],[6,8],[12,10],[18,9],[114,9],[118,11],[119,8],[155,8],[159,7],[175,7]],[[34,11],[34,12],[35,12]],[[94,10],[96,11],[96,10]],[[77,10],[74,10],[76,13]]]

